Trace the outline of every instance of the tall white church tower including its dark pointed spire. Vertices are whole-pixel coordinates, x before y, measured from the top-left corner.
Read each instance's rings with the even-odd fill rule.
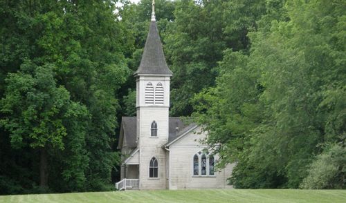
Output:
[[[156,27],[155,3],[149,33],[136,77],[137,140],[139,147],[140,189],[163,189],[166,186],[166,151],[168,142],[170,77]]]

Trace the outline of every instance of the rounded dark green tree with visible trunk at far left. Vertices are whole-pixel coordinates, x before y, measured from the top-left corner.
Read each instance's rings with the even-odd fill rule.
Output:
[[[53,66],[35,66],[30,61],[6,79],[5,97],[1,99],[1,124],[10,132],[13,148],[30,146],[40,155],[40,186],[48,186],[48,155],[51,149],[64,149],[67,135],[63,120],[77,114],[79,107],[70,100],[69,92],[57,87]],[[79,116],[85,116],[81,114]]]

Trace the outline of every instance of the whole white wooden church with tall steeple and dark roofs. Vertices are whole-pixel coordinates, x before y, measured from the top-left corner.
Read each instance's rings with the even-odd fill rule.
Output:
[[[122,189],[226,189],[233,165],[215,170],[217,157],[203,153],[206,136],[196,124],[169,117],[170,77],[152,21],[136,77],[136,117],[122,117],[118,149],[122,153]]]

